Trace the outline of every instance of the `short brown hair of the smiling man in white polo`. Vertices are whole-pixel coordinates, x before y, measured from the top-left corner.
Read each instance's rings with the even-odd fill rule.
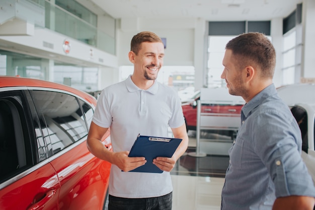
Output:
[[[161,42],[163,43],[162,39],[157,36],[156,34],[143,31],[136,35],[134,35],[131,39],[130,50],[133,51],[136,55],[140,50],[140,46],[142,42]]]

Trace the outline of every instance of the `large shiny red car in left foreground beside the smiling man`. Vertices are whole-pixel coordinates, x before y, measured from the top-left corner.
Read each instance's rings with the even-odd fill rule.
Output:
[[[95,106],[68,86],[0,77],[0,209],[103,209],[111,164],[86,145]]]

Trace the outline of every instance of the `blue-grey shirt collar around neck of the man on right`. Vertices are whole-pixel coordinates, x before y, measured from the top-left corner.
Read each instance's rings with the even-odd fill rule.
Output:
[[[277,93],[277,90],[274,86],[274,84],[271,84],[267,86],[264,90],[262,90],[260,93],[258,93],[252,100],[250,100],[248,103],[246,103],[243,108],[242,112],[244,113],[245,117],[249,115],[249,113],[259,106],[266,98],[269,96]]]

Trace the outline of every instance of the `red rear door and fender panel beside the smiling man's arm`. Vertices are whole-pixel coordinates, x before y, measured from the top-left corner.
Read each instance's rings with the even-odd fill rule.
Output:
[[[106,197],[110,165],[95,158],[86,142],[51,161],[61,184],[59,209],[101,210]]]

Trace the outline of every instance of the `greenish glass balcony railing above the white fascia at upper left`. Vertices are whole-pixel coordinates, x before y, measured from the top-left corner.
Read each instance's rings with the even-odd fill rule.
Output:
[[[19,18],[34,23],[36,27],[48,28],[115,55],[114,18],[107,15],[110,24],[103,22],[97,24],[97,15],[77,2],[71,1],[70,5],[67,5],[69,1],[58,2],[63,3],[60,6],[69,6],[69,8],[65,7],[67,8],[65,10],[47,0],[8,0],[12,5],[11,9],[1,18],[3,21]],[[76,11],[76,8],[80,8],[80,11]],[[71,11],[76,13],[72,14]]]

